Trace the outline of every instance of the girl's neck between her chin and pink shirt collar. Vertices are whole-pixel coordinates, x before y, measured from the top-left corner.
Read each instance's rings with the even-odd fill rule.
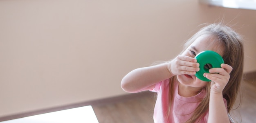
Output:
[[[179,82],[178,94],[182,97],[192,97],[200,93],[202,88],[196,88],[191,86],[186,86]]]

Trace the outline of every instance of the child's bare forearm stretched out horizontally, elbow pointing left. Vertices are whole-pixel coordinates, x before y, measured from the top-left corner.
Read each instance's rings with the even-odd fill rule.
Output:
[[[138,68],[129,72],[121,81],[126,92],[139,92],[155,83],[172,77],[167,64]]]

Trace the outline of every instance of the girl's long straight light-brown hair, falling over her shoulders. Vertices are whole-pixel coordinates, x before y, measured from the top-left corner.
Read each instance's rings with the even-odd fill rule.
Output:
[[[229,64],[233,68],[230,73],[229,82],[222,92],[223,97],[227,100],[227,110],[229,113],[235,103],[240,88],[240,82],[243,77],[244,53],[242,38],[240,35],[238,35],[238,33],[228,26],[221,23],[210,24],[200,29],[200,31],[195,33],[195,35],[187,40],[187,42],[184,44],[184,50],[201,35],[211,35],[215,37],[214,42],[219,42],[220,46],[223,47],[222,58],[224,59],[225,64]],[[175,81],[177,81],[177,76],[170,79],[169,107],[171,106],[171,102],[173,100],[173,83]],[[206,96],[204,99],[202,99],[201,103],[198,105],[191,118],[186,121],[186,123],[195,123],[196,121],[199,122],[203,118],[204,114],[209,110],[210,86],[211,83],[209,82],[207,86],[202,88],[205,89]]]

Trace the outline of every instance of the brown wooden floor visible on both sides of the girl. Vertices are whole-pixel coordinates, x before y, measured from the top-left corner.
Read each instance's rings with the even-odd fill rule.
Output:
[[[243,101],[240,108],[231,111],[231,116],[238,123],[256,123],[256,82],[245,80],[241,89]],[[92,108],[99,123],[154,123],[155,99],[154,92],[147,92],[143,96],[122,101],[92,105]]]

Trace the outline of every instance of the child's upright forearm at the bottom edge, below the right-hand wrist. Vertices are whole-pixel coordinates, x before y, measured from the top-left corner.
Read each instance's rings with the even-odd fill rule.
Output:
[[[207,123],[230,123],[222,93],[211,92]]]

